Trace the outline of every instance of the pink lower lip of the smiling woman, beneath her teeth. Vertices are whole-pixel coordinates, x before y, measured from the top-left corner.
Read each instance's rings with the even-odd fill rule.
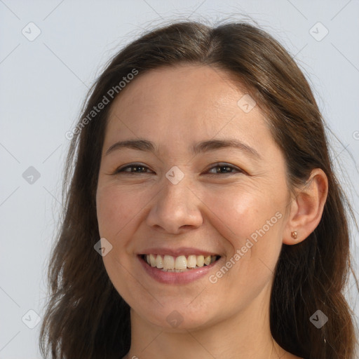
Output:
[[[154,280],[157,280],[157,282],[165,284],[187,284],[194,282],[195,280],[198,280],[199,278],[202,278],[208,274],[208,272],[221,260],[221,258],[219,258],[216,262],[208,264],[208,266],[203,266],[197,269],[190,269],[189,271],[185,272],[165,272],[161,271],[161,269],[158,269],[155,266],[150,266],[147,264],[147,262],[144,262],[142,257],[137,257],[140,259],[144,270],[147,272],[147,274],[149,274],[149,276],[154,278]]]

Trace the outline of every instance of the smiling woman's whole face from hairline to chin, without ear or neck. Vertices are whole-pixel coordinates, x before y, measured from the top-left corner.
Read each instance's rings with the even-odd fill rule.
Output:
[[[285,161],[243,95],[222,70],[182,65],[138,76],[111,105],[96,198],[112,245],[103,260],[147,323],[193,329],[269,306]],[[116,144],[129,140],[146,142]]]

